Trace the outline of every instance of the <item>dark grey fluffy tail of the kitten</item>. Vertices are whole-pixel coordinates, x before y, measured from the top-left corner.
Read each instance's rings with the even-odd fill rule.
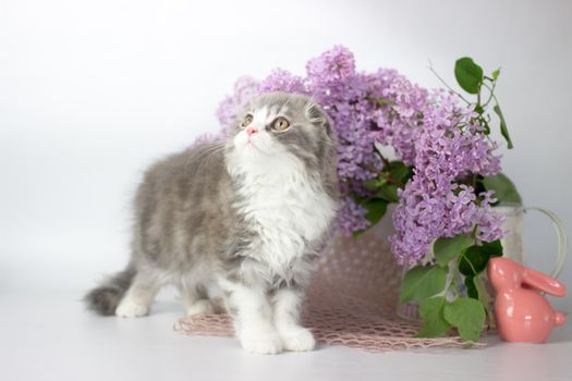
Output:
[[[84,297],[87,309],[102,316],[114,315],[115,308],[131,286],[135,273],[135,269],[129,266],[125,270],[109,276],[98,287],[88,292]]]

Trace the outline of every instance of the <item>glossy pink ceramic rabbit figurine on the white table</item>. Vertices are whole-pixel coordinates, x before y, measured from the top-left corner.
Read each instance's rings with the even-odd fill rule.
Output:
[[[541,343],[555,325],[565,322],[540,294],[564,296],[562,283],[507,258],[490,259],[488,278],[497,291],[495,317],[503,340]]]

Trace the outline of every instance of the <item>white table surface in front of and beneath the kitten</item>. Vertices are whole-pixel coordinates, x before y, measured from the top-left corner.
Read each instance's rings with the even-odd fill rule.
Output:
[[[484,349],[369,354],[341,346],[251,355],[233,339],[173,332],[181,309],[161,297],[151,316],[100,318],[82,293],[0,292],[0,380],[572,380],[572,329],[549,344],[486,337]]]

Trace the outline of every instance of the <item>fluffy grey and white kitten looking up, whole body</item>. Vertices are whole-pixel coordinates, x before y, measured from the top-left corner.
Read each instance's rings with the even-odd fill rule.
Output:
[[[87,306],[145,316],[175,284],[188,315],[221,300],[246,351],[311,351],[301,305],[336,216],[334,140],[312,99],[275,93],[244,108],[227,142],[153,165],[136,195],[131,261]]]

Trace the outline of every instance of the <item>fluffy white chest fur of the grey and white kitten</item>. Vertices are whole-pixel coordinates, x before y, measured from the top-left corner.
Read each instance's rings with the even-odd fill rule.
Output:
[[[244,201],[238,208],[256,234],[252,255],[284,276],[336,214],[334,201],[296,165],[243,172],[239,188]]]

